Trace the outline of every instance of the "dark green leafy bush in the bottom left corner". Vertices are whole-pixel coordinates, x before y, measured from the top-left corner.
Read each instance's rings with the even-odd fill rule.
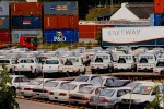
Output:
[[[3,71],[0,73],[0,109],[19,109],[16,102],[16,93],[10,86],[11,78],[8,75],[7,68],[3,65]]]

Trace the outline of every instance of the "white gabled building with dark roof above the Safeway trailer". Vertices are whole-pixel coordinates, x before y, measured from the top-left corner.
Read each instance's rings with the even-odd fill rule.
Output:
[[[122,3],[110,20],[142,21],[149,20],[153,13],[153,3]]]

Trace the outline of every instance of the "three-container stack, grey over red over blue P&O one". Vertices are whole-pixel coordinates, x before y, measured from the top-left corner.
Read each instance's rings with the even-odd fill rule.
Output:
[[[77,1],[55,1],[44,3],[45,41],[78,41],[78,23]]]

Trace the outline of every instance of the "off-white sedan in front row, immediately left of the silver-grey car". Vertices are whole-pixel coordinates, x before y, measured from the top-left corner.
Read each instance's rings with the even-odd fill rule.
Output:
[[[98,93],[104,89],[99,86],[84,86],[78,93],[70,95],[70,104],[75,105],[89,105],[92,96],[98,95]]]

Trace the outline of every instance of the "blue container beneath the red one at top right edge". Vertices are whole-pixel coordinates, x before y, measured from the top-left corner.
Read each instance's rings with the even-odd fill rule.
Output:
[[[163,26],[163,25],[164,25],[164,15],[154,14],[154,26]]]

